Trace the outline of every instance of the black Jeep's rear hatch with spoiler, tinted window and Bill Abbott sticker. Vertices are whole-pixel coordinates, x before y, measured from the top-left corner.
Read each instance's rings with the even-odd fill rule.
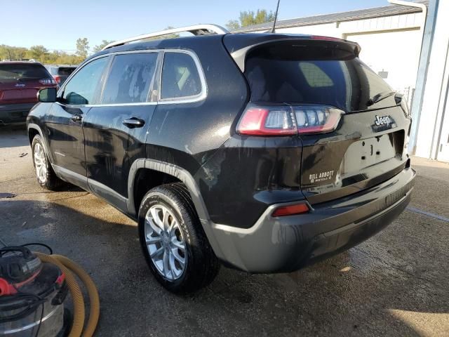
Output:
[[[357,44],[286,36],[246,49],[244,64],[242,49],[231,55],[248,80],[251,113],[255,106],[273,112],[260,136],[276,136],[283,121],[281,134],[300,138],[298,180],[311,204],[382,183],[408,164],[406,103],[358,59]],[[246,117],[238,132],[253,126]]]

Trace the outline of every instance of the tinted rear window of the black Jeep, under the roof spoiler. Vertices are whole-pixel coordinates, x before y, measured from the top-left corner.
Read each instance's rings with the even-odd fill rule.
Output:
[[[351,112],[375,107],[370,98],[391,91],[353,53],[324,44],[259,48],[248,55],[245,74],[255,102],[319,103]],[[396,104],[394,96],[389,100],[382,104]]]

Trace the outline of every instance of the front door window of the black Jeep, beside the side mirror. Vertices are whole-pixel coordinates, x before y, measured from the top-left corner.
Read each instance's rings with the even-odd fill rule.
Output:
[[[109,58],[93,60],[81,68],[64,88],[62,98],[69,105],[92,104]]]

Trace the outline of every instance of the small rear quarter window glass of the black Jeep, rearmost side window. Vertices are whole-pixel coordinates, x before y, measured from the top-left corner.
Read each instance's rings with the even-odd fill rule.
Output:
[[[201,93],[201,80],[192,57],[167,52],[163,57],[161,99],[188,98]]]

